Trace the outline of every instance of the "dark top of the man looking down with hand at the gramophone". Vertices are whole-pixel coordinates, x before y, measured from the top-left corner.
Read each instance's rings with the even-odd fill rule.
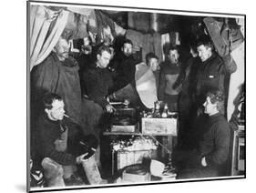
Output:
[[[94,64],[83,74],[87,96],[101,107],[108,105],[107,96],[113,86],[112,77],[107,68],[100,68]]]

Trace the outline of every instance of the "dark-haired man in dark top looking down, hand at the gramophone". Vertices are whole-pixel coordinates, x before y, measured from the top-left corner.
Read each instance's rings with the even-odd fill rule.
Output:
[[[109,90],[113,86],[112,77],[107,69],[111,59],[109,47],[100,46],[95,59],[83,74],[83,86],[85,86],[83,90],[86,90],[88,99],[84,100],[83,110],[87,126],[99,139],[102,129],[100,120],[105,120],[105,117],[108,117],[105,112],[113,113],[115,110],[108,102]]]

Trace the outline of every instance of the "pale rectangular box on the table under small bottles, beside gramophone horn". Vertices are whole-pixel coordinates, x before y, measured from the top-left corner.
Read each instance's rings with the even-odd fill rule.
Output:
[[[143,135],[177,136],[177,118],[146,118],[141,119]]]

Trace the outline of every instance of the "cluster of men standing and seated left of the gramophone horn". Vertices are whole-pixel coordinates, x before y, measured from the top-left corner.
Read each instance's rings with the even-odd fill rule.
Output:
[[[113,50],[104,44],[97,46],[96,53],[92,54],[88,50],[87,45],[83,54],[90,56],[80,55],[76,60],[69,56],[67,40],[60,37],[53,52],[31,72],[31,156],[35,166],[37,164],[45,169],[48,184],[59,175],[63,176],[66,185],[70,184],[68,181],[77,181],[74,165],[81,163],[76,158],[79,157],[77,141],[87,138],[90,141],[88,149],[97,149],[94,146],[102,132],[99,122],[106,116],[105,112],[108,114],[115,110],[107,99],[114,86],[112,75],[107,69]],[[118,88],[131,82],[136,64],[131,57],[131,46],[124,43],[122,50],[126,59],[122,61],[124,67],[118,68],[120,76],[115,76],[118,83],[115,86]],[[85,70],[81,72],[77,61],[82,63],[84,58],[89,58],[89,64],[88,61],[86,67],[83,64],[81,69]],[[130,66],[130,63],[134,66]],[[72,124],[63,124],[66,122]],[[81,157],[83,154],[79,153]],[[44,161],[49,158],[50,162]],[[55,169],[49,167],[49,163],[50,166],[56,164]],[[63,172],[60,172],[59,166]]]

